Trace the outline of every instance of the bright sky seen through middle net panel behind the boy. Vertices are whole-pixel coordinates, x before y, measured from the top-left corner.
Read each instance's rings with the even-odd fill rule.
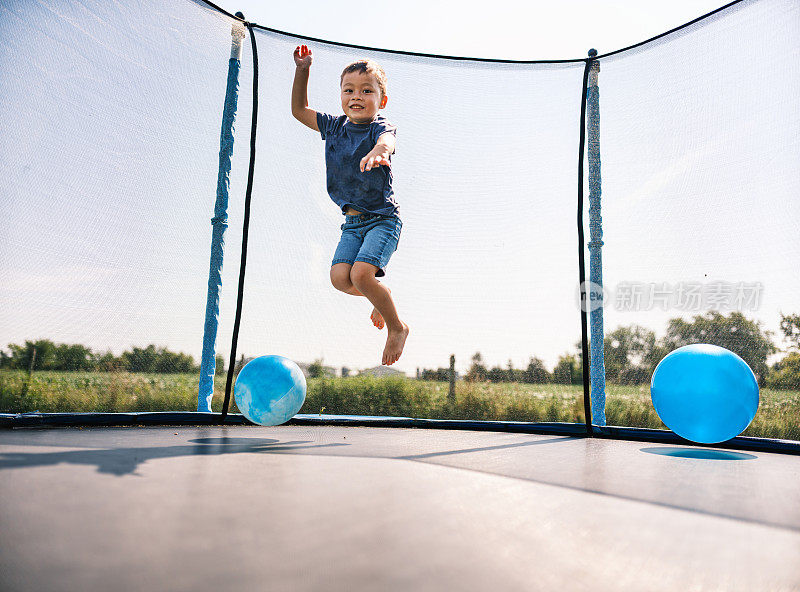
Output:
[[[334,367],[380,365],[372,306],[336,292],[329,270],[343,216],[326,192],[323,142],[294,120],[300,39],[259,31],[258,161],[240,346]],[[355,52],[314,44],[312,108],[338,115],[339,76],[358,57],[389,76],[398,126],[394,189],[403,220],[386,270],[413,337],[396,366],[555,363],[580,340],[575,179],[583,64],[512,66]],[[509,78],[514,77],[513,92]],[[476,84],[480,81],[480,84]],[[542,133],[542,130],[544,133]],[[413,345],[411,345],[413,344]]]

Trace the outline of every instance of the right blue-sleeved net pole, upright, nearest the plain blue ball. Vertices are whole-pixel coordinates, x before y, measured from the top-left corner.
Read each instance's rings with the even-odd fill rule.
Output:
[[[589,57],[597,51],[589,51]],[[606,425],[606,370],[603,356],[603,218],[600,209],[600,62],[592,60],[586,96],[587,159],[589,164],[589,287],[587,306],[590,327],[590,368],[592,420]]]

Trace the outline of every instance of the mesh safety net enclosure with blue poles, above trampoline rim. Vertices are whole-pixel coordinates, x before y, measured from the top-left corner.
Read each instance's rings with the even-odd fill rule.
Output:
[[[632,48],[504,61],[204,2],[6,3],[0,412],[219,411],[225,372],[269,353],[307,368],[303,414],[663,430],[652,373],[701,342],[759,380],[745,435],[800,440],[798,13],[741,1]],[[343,219],[289,108],[301,43],[317,111],[341,113],[352,61],[387,73],[397,373],[371,305],[331,286]]]

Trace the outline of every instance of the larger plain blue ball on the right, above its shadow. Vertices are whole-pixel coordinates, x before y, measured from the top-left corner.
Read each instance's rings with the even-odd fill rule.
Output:
[[[741,434],[758,410],[758,382],[732,351],[696,343],[664,357],[650,396],[658,416],[679,436],[713,444]]]

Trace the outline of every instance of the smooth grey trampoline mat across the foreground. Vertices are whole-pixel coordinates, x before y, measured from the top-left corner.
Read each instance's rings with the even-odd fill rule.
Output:
[[[800,458],[332,426],[0,431],[0,589],[796,590]]]

